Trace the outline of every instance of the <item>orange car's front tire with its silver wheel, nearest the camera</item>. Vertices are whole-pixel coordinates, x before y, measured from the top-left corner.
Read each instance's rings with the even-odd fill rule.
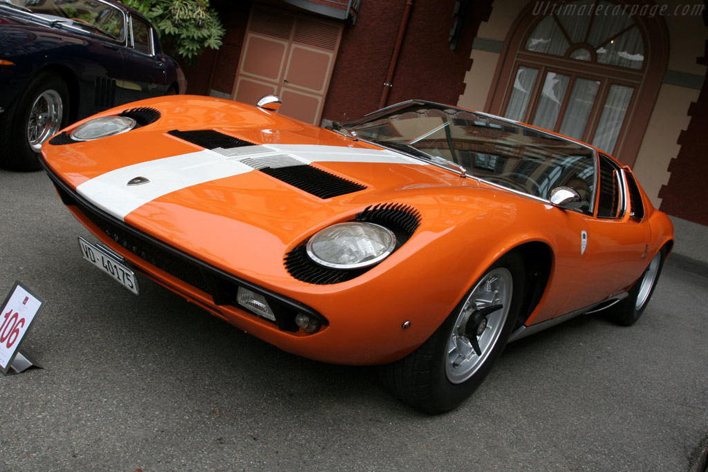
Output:
[[[387,388],[430,414],[452,410],[468,398],[506,346],[523,296],[524,273],[516,255],[489,267],[421,347],[379,369]]]

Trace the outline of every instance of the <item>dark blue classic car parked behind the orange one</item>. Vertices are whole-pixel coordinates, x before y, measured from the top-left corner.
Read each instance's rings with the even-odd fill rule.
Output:
[[[108,0],[0,0],[0,166],[39,168],[70,122],[141,98],[184,93],[152,25]]]

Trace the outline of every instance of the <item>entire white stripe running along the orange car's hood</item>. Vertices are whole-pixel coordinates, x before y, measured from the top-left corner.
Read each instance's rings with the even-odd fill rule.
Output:
[[[265,166],[307,165],[312,162],[428,163],[387,149],[360,149],[311,144],[266,144],[215,149],[155,159],[110,171],[87,180],[76,190],[104,212],[120,220],[147,202],[183,188],[252,172]],[[292,163],[292,164],[290,164]],[[149,179],[127,185],[136,177]]]

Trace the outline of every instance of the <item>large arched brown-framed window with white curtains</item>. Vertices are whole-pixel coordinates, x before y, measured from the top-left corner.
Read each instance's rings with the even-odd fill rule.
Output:
[[[650,61],[647,26],[629,15],[628,6],[606,0],[547,3],[545,10],[539,5],[546,2],[527,8],[512,30],[491,112],[611,154],[624,150],[624,161],[633,163],[651,113],[641,100],[649,98],[653,105],[663,76],[663,69],[658,77],[649,69],[665,68],[666,57]],[[641,131],[634,126],[638,142],[628,146],[637,113],[646,116]]]

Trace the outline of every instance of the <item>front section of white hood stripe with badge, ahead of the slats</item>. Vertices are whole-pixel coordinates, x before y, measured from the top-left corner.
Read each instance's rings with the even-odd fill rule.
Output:
[[[253,168],[205,149],[115,169],[87,180],[76,187],[76,191],[104,212],[122,220],[147,202],[175,190],[246,172],[253,172]],[[127,185],[135,177],[148,178],[150,182]]]

